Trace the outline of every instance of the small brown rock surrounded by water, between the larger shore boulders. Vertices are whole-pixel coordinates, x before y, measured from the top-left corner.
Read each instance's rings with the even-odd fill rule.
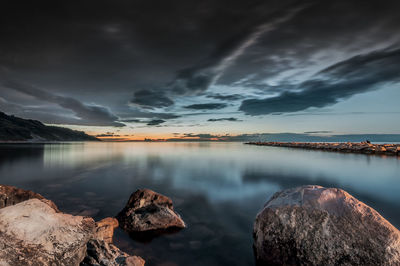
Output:
[[[174,212],[172,200],[149,189],[133,193],[117,219],[129,233],[185,228],[183,220]]]

